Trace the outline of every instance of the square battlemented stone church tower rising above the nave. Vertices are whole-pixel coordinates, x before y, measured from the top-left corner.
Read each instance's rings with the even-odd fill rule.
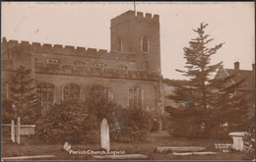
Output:
[[[136,53],[136,68],[160,74],[159,15],[127,11],[111,20],[111,50]]]

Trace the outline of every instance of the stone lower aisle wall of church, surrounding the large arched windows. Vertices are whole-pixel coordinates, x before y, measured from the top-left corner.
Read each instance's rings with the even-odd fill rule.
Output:
[[[113,91],[113,99],[123,107],[128,106],[128,90],[131,87],[139,86],[144,90],[144,108],[147,106],[150,110],[155,110],[157,96],[155,95],[155,85],[158,81],[140,81],[140,80],[126,80],[126,79],[102,79],[90,78],[80,76],[67,76],[56,74],[35,74],[36,83],[48,82],[55,85],[54,88],[54,102],[63,100],[63,86],[69,83],[75,83],[81,86],[81,98],[83,99],[87,85],[100,84],[108,87]]]

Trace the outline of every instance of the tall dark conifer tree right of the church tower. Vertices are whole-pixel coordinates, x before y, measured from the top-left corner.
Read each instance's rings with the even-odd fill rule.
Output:
[[[223,62],[211,64],[211,58],[224,43],[208,47],[214,39],[205,33],[207,26],[208,24],[202,23],[199,28],[193,29],[198,36],[189,41],[189,47],[184,48],[185,70],[176,70],[182,73],[187,81],[169,81],[175,89],[167,98],[180,103],[179,109],[165,108],[170,114],[171,135],[209,136],[214,128],[220,128],[225,122],[232,123],[234,119],[239,120],[245,114],[242,109],[242,104],[246,104],[245,99],[238,95],[229,96],[243,80],[230,84],[234,76],[224,80],[213,77],[223,66]],[[240,117],[237,116],[239,114]]]

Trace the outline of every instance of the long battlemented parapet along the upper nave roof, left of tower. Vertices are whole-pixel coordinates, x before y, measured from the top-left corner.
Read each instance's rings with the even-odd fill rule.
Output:
[[[48,44],[39,42],[9,40],[7,43],[9,48],[19,46],[25,52],[34,53],[50,53],[50,54],[62,54],[62,55],[76,55],[89,58],[100,58],[100,59],[112,59],[122,61],[135,61],[135,53],[131,52],[117,52],[107,51],[106,49],[86,48],[86,47],[75,47],[70,45],[60,44]]]

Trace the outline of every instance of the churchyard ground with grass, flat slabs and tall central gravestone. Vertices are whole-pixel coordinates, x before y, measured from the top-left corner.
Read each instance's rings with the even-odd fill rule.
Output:
[[[103,125],[105,125],[105,122]],[[104,141],[109,141],[107,138],[107,129],[105,126],[102,126],[102,136]],[[104,132],[104,133],[103,133]],[[102,139],[102,138],[101,138]],[[102,141],[101,141],[102,142]],[[235,151],[232,149],[229,152],[224,152],[224,149],[218,147],[219,144],[231,144],[231,137],[228,139],[187,139],[185,137],[171,137],[166,132],[161,131],[158,133],[151,133],[140,142],[131,142],[131,143],[121,143],[121,142],[111,142],[109,143],[69,143],[70,150],[73,150],[73,153],[70,151],[64,150],[64,143],[56,144],[47,144],[45,141],[38,139],[35,135],[22,135],[21,143],[13,142],[10,138],[10,135],[2,136],[2,157],[23,157],[31,156],[33,160],[101,160],[98,157],[102,155],[97,155],[96,151],[101,151],[101,147],[108,147],[110,151],[119,151],[121,152],[118,156],[126,156],[125,159],[151,159],[151,160],[242,160],[244,159],[243,153],[241,151]],[[103,145],[102,145],[103,144]],[[157,148],[172,147],[172,151],[158,151]],[[181,151],[175,151],[175,149]],[[189,151],[189,148],[191,150]],[[203,148],[203,149],[202,149]],[[195,152],[194,154],[184,154],[185,152]],[[74,152],[82,152],[90,150],[92,154],[79,154]],[[106,149],[107,150],[107,149]],[[163,149],[164,150],[164,149]],[[187,151],[186,151],[187,150]],[[175,153],[175,152],[180,152]],[[183,152],[183,154],[182,154]],[[205,152],[212,154],[196,153],[196,152]],[[214,154],[213,154],[214,153]],[[46,156],[45,156],[46,155]],[[36,156],[38,158],[36,158]],[[40,157],[41,156],[41,157]],[[43,157],[45,156],[45,157]],[[109,156],[109,155],[107,155]],[[113,155],[110,155],[113,156]],[[129,158],[130,156],[130,158]],[[138,157],[137,157],[138,156]],[[122,157],[121,157],[122,158]],[[103,158],[104,159],[104,158]],[[109,159],[105,158],[105,159]],[[111,159],[111,158],[110,158]],[[8,158],[6,159],[8,160]],[[28,159],[27,159],[28,160]],[[115,160],[115,159],[113,159]]]

